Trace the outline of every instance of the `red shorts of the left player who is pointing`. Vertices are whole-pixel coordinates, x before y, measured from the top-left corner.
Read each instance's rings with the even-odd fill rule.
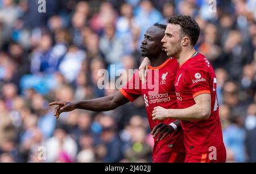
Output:
[[[158,156],[153,156],[153,163],[184,163],[185,153],[168,152]]]

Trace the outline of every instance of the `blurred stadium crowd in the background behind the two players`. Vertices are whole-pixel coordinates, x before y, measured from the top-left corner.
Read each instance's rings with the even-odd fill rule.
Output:
[[[256,162],[256,1],[0,0],[0,162],[151,162],[142,98],[56,120],[48,103],[111,95],[97,72],[136,69],[146,29],[191,15],[217,75],[227,162]],[[113,75],[110,74],[110,75]],[[39,152],[46,147],[46,160]],[[42,155],[41,155],[42,157]]]

